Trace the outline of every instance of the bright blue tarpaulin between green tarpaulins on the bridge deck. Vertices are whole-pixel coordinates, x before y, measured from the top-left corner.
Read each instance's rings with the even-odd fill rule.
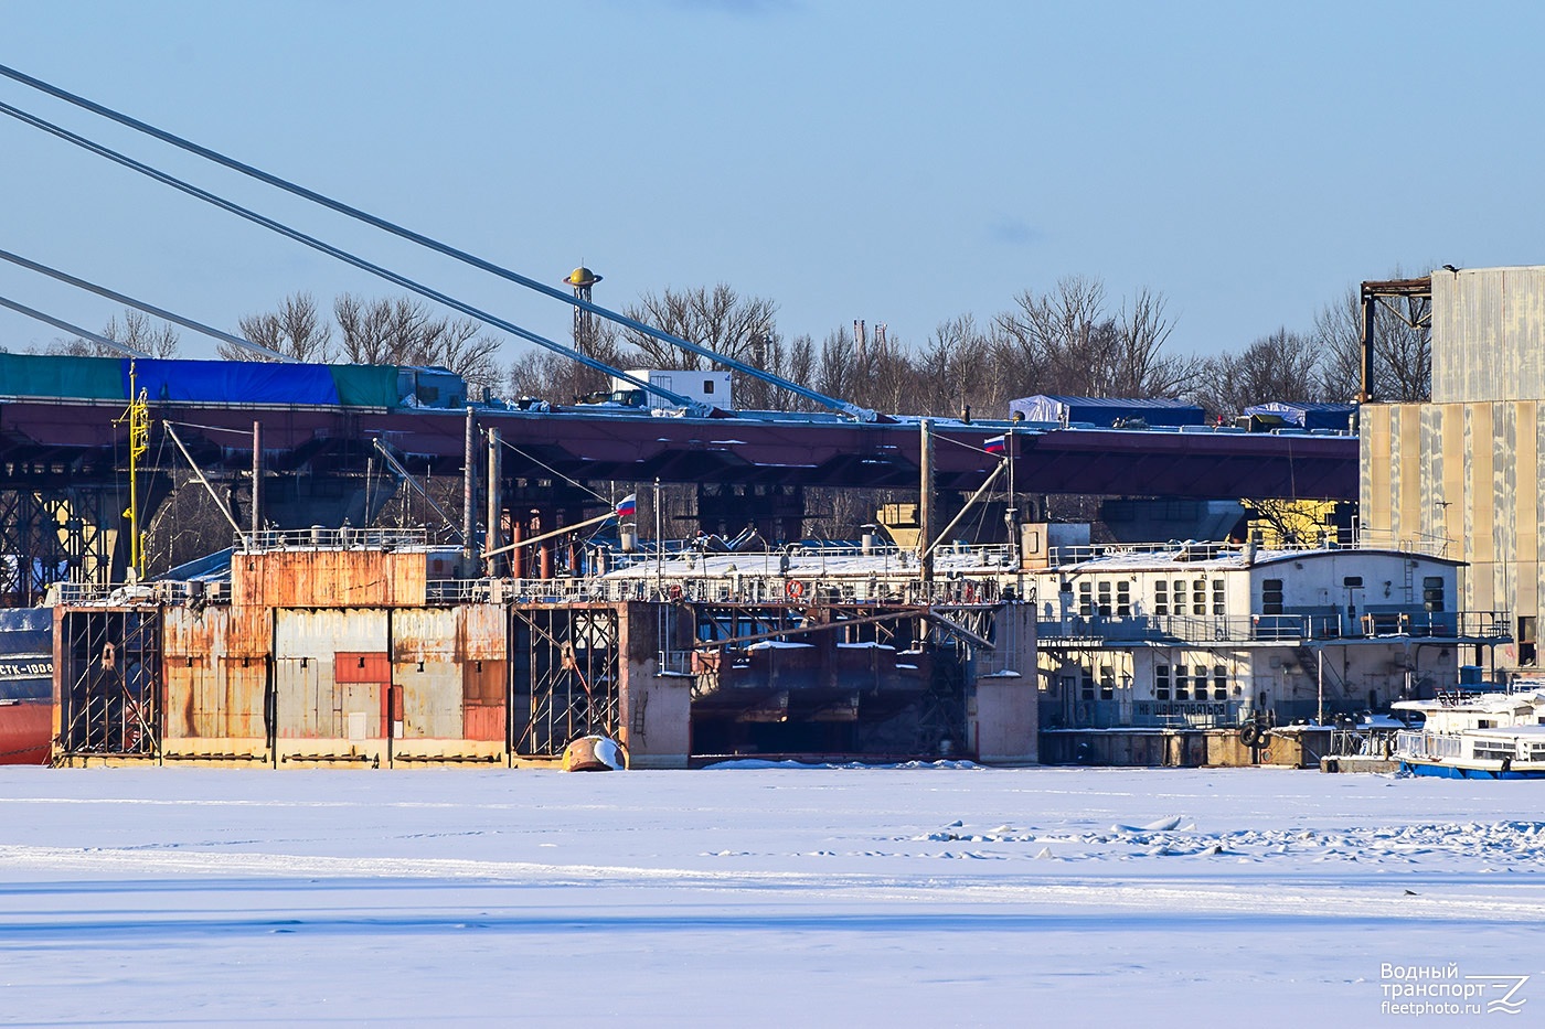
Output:
[[[136,388],[150,402],[338,403],[338,386],[326,365],[270,362],[178,362],[134,358]],[[128,392],[124,362],[124,391]]]

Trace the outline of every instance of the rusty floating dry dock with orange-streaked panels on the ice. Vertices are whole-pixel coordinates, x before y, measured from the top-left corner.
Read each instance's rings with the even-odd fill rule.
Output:
[[[776,553],[711,581],[697,555],[457,579],[457,555],[414,531],[267,533],[229,584],[66,595],[54,763],[497,766],[587,734],[635,768],[1037,759],[1034,606],[976,558],[924,582]]]

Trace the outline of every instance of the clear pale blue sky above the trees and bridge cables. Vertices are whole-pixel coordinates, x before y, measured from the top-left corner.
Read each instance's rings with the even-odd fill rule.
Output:
[[[1177,352],[1398,263],[1545,263],[1545,6],[0,3],[0,63],[596,300],[725,281],[921,341],[1071,273]],[[0,99],[559,340],[569,309],[9,80]],[[0,117],[0,247],[226,329],[392,289]],[[1418,267],[1423,266],[1423,267]],[[0,264],[97,329],[110,301]],[[59,335],[0,311],[0,345]],[[507,358],[525,349],[511,341]],[[184,332],[184,354],[213,345]]]

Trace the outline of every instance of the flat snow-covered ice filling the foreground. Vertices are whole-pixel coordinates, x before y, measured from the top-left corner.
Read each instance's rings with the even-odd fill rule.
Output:
[[[1279,769],[3,768],[0,1024],[1367,1026],[1390,964],[1528,975],[1523,1024],[1542,800]]]

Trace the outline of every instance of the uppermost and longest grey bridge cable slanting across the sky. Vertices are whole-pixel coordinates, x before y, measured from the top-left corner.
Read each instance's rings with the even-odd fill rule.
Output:
[[[85,99],[82,96],[76,96],[74,93],[62,90],[62,88],[59,88],[56,85],[51,85],[48,82],[43,82],[42,79],[34,79],[32,76],[29,76],[26,73],[17,71],[15,68],[6,66],[6,65],[0,65],[0,76],[5,76],[5,77],[8,77],[8,79],[11,79],[14,82],[20,82],[22,85],[31,87],[31,88],[34,88],[34,90],[37,90],[40,93],[46,93],[48,96],[53,96],[56,99],[65,100],[66,104],[73,104],[73,105],[76,105],[79,108],[91,111],[93,114],[99,114],[102,117],[114,121],[119,125],[125,125],[128,128],[133,128],[133,130],[136,130],[139,133],[144,133],[144,134],[151,136],[154,139],[159,139],[159,141],[162,141],[165,144],[178,147],[179,150],[185,150],[187,153],[192,153],[192,155],[196,155],[199,158],[204,158],[205,161],[213,161],[215,164],[219,164],[219,165],[222,165],[226,168],[230,168],[232,172],[239,172],[241,175],[246,175],[249,178],[258,179],[260,182],[266,182],[267,185],[272,185],[275,188],[281,188],[286,193],[292,193],[294,196],[300,196],[303,199],[309,199],[314,204],[320,204],[323,207],[328,207],[329,210],[334,210],[334,212],[338,212],[340,215],[346,215],[349,218],[354,218],[355,221],[363,221],[365,224],[372,226],[375,229],[380,229],[382,232],[389,232],[394,236],[399,236],[402,239],[408,239],[409,243],[417,243],[422,247],[428,247],[428,249],[431,249],[431,250],[434,250],[437,253],[450,256],[450,258],[453,258],[456,261],[460,261],[460,263],[468,264],[471,267],[476,267],[479,270],[488,272],[491,275],[497,275],[499,278],[504,278],[507,281],[516,283],[519,286],[525,286],[527,289],[533,289],[533,290],[536,290],[539,294],[552,297],[553,300],[559,300],[559,301],[562,301],[565,304],[570,304],[573,307],[578,307],[581,311],[587,311],[587,312],[590,312],[593,315],[599,315],[599,317],[603,317],[603,318],[606,318],[609,321],[615,321],[616,324],[621,324],[621,326],[624,326],[627,329],[633,329],[635,332],[641,332],[641,334],[644,334],[647,337],[660,340],[661,343],[669,343],[672,346],[680,346],[681,349],[691,351],[692,354],[697,354],[698,357],[706,357],[706,358],[709,358],[712,362],[717,362],[717,363],[725,365],[728,368],[732,368],[732,369],[735,369],[739,372],[751,375],[752,379],[757,379],[760,382],[769,383],[769,385],[777,386],[780,389],[786,389],[786,391],[789,391],[793,394],[797,394],[797,396],[800,396],[800,397],[803,397],[806,400],[813,400],[814,403],[819,403],[823,408],[830,408],[833,411],[840,411],[842,414],[847,414],[847,416],[850,416],[850,417],[853,417],[853,419],[856,419],[859,422],[873,422],[873,420],[876,420],[874,411],[870,411],[868,408],[862,408],[862,406],[850,403],[847,400],[837,400],[834,397],[828,397],[825,394],[816,392],[814,389],[810,389],[806,386],[800,386],[796,382],[789,382],[788,379],[782,379],[780,375],[774,375],[772,372],[763,371],[763,369],[760,369],[760,368],[757,368],[754,365],[748,365],[748,363],[745,363],[745,362],[742,362],[739,358],[729,357],[728,354],[718,354],[715,351],[708,349],[706,346],[701,346],[698,343],[691,343],[691,341],[688,341],[688,340],[684,340],[681,337],[672,335],[672,334],[669,334],[669,332],[666,332],[663,329],[657,329],[657,328],[654,328],[654,326],[650,326],[650,324],[647,324],[644,321],[640,321],[637,318],[630,318],[630,317],[627,317],[624,314],[620,314],[616,311],[610,311],[610,309],[603,307],[599,304],[590,303],[589,300],[581,300],[579,297],[575,297],[572,294],[565,294],[564,290],[561,290],[561,289],[558,289],[555,286],[548,286],[547,283],[542,283],[539,280],[530,278],[527,275],[521,275],[519,272],[513,272],[513,270],[510,270],[507,267],[502,267],[499,264],[494,264],[491,261],[485,261],[484,258],[479,258],[479,256],[476,256],[473,253],[468,253],[465,250],[453,247],[453,246],[450,246],[447,243],[440,243],[439,239],[434,239],[431,236],[425,236],[425,235],[422,235],[419,232],[414,232],[411,229],[405,229],[403,226],[399,226],[396,222],[386,221],[385,218],[379,218],[375,215],[371,215],[369,212],[360,210],[357,207],[351,207],[349,204],[345,204],[343,201],[332,199],[331,196],[326,196],[323,193],[317,193],[317,192],[309,190],[309,188],[306,188],[303,185],[297,185],[295,182],[290,182],[289,179],[283,179],[283,178],[280,178],[277,175],[270,175],[267,172],[263,172],[261,168],[256,168],[256,167],[253,167],[250,164],[236,161],[235,158],[229,158],[229,156],[219,153],[218,150],[210,150],[209,147],[201,147],[199,144],[195,144],[195,142],[192,142],[188,139],[182,139],[181,136],[176,136],[173,133],[168,133],[168,131],[164,131],[161,128],[156,128],[154,125],[142,122],[142,121],[139,121],[136,117],[130,117],[128,114],[116,111],[116,110],[113,110],[110,107],[104,107],[102,104],[96,104],[94,100],[88,100],[88,99]],[[531,341],[535,343],[535,340],[531,340]]]

